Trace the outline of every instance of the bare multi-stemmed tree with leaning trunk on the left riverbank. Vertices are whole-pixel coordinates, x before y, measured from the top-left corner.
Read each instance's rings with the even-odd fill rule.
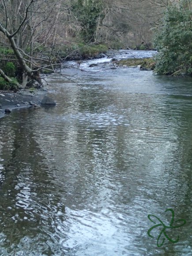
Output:
[[[37,61],[45,60],[34,56],[33,51],[36,42],[45,46],[50,37],[55,42],[60,4],[50,0],[0,0],[0,5],[3,11],[0,15],[0,43],[11,47],[14,52],[22,73],[18,86],[25,88],[29,80],[41,86],[41,66]],[[47,60],[47,63],[47,68],[52,68],[51,61]],[[8,81],[2,70],[0,74]]]

